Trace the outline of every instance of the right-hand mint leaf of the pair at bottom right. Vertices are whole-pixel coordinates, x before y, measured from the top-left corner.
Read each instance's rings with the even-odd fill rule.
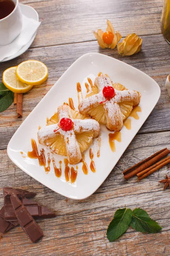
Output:
[[[130,226],[136,231],[147,232],[147,233],[157,233],[162,227],[156,221],[153,221],[146,211],[140,208],[133,210],[132,221]]]

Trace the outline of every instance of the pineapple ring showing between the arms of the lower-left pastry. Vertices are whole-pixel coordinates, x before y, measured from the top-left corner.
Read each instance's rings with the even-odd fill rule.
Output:
[[[71,110],[73,119],[89,119],[88,115],[83,115],[78,111]],[[47,125],[57,124],[59,122],[58,113],[51,116],[51,119],[47,121]],[[79,143],[81,153],[85,151],[91,145],[93,141],[93,134],[91,132],[84,132],[81,134],[76,134],[77,142]],[[64,138],[60,134],[56,134],[55,137],[45,140],[45,144],[50,147],[54,153],[60,154],[62,156],[67,156]]]

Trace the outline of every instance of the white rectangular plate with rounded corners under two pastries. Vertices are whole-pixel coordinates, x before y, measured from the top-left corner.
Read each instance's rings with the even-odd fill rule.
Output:
[[[125,127],[122,128],[122,142],[119,143],[116,141],[116,152],[111,151],[108,140],[109,131],[105,126],[102,126],[99,158],[96,156],[96,139],[91,145],[92,151],[94,152],[96,172],[91,172],[89,168],[91,161],[88,149],[85,152],[85,161],[88,164],[89,169],[88,175],[83,173],[82,163],[79,163],[76,182],[74,184],[67,183],[64,174],[64,157],[59,155],[56,156],[57,163],[59,160],[62,160],[63,164],[62,177],[58,179],[55,176],[52,163],[51,171],[47,174],[45,173],[44,168],[39,166],[37,159],[22,157],[20,151],[23,151],[24,154],[27,155],[27,152],[32,150],[31,138],[37,141],[39,125],[41,127],[46,125],[47,117],[51,117],[57,111],[57,107],[62,105],[63,102],[68,102],[69,97],[73,99],[74,106],[78,110],[77,82],[79,81],[81,83],[82,91],[85,92],[85,78],[90,77],[94,80],[99,72],[108,74],[113,82],[119,82],[128,89],[139,91],[142,94],[140,102],[142,112],[138,112],[139,120],[131,118],[131,130],[127,130]],[[155,107],[159,100],[159,96],[159,85],[142,71],[106,55],[87,53],[82,55],[82,57],[77,59],[77,61],[68,68],[36,108],[29,114],[22,125],[20,125],[8,144],[8,156],[20,169],[55,192],[68,198],[87,198],[98,189],[110,174],[131,140],[133,140],[133,137]],[[57,167],[59,167],[59,165]],[[120,175],[122,175],[122,173],[120,173]]]

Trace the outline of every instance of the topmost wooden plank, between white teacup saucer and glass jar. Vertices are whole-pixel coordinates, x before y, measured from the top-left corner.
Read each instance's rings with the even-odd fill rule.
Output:
[[[34,3],[35,2],[35,3]],[[31,47],[95,40],[93,31],[106,20],[125,37],[160,33],[163,0],[22,0],[39,14],[42,24]]]

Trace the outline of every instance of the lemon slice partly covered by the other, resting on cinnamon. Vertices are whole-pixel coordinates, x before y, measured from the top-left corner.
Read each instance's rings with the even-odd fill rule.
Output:
[[[14,93],[26,93],[33,85],[24,84],[16,76],[16,67],[10,67],[3,72],[3,83]]]

